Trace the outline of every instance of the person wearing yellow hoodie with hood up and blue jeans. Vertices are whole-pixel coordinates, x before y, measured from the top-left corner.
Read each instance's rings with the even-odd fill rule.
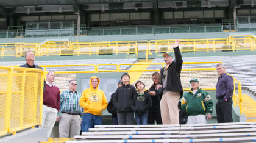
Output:
[[[98,89],[99,78],[92,76],[90,88],[83,91],[79,101],[80,107],[84,108],[82,131],[88,132],[94,125],[102,125],[102,111],[107,108],[107,99],[102,90]]]

